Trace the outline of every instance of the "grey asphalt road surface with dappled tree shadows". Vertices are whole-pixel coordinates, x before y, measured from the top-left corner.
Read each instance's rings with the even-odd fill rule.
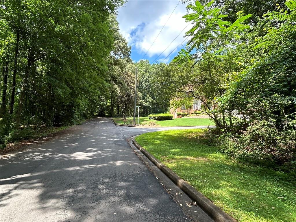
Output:
[[[126,138],[97,118],[1,159],[1,221],[190,221]]]

